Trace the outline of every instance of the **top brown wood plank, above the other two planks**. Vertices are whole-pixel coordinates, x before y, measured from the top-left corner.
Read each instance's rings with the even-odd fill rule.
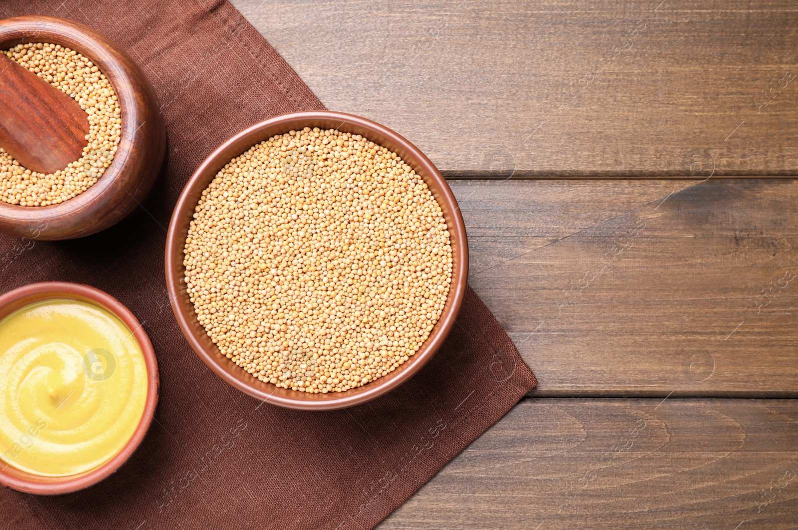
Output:
[[[798,174],[789,0],[233,3],[445,176]]]

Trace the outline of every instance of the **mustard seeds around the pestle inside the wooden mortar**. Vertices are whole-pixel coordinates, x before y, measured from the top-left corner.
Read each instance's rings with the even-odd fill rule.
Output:
[[[0,148],[0,200],[21,206],[47,206],[80,195],[97,182],[117,152],[122,120],[111,83],[92,61],[61,45],[35,42],[0,51],[69,94],[89,115],[83,155],[49,175],[22,167]]]

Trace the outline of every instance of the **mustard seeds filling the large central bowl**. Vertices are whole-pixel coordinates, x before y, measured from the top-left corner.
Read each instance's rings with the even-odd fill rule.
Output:
[[[305,128],[225,165],[185,244],[186,287],[219,350],[261,381],[342,392],[424,343],[452,280],[440,206],[396,153]]]

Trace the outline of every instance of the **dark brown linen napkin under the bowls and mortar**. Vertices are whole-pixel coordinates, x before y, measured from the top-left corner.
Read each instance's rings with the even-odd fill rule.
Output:
[[[2,528],[372,528],[535,386],[508,335],[469,288],[440,352],[399,389],[352,409],[279,409],[211,373],[185,342],[164,285],[177,196],[218,144],[248,125],[323,109],[226,1],[6,1],[0,17],[54,14],[128,50],[160,98],[168,165],[150,200],[97,235],[0,236],[0,292],[88,283],[144,323],[160,403],[112,477],[65,496],[0,491]]]

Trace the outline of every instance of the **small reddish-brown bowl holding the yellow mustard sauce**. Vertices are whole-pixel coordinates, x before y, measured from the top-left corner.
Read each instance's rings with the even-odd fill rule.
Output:
[[[54,298],[81,300],[82,302],[105,307],[111,313],[116,314],[124,322],[124,325],[133,331],[133,336],[139,343],[141,353],[144,354],[144,363],[147,366],[147,401],[144,402],[144,413],[141,416],[139,426],[133,433],[132,438],[128,440],[127,445],[111,460],[97,468],[67,477],[41,477],[40,475],[15,469],[10,465],[6,466],[5,469],[0,469],[0,485],[16,489],[19,492],[34,493],[36,495],[59,495],[61,493],[75,492],[95,485],[117,471],[144,439],[158,403],[158,363],[155,358],[155,350],[152,349],[152,343],[150,343],[144,327],[141,326],[130,310],[108,293],[80,283],[29,283],[13,291],[8,291],[5,295],[0,295],[0,319],[6,318],[7,315],[30,303]],[[2,461],[0,461],[0,464],[2,464]]]

